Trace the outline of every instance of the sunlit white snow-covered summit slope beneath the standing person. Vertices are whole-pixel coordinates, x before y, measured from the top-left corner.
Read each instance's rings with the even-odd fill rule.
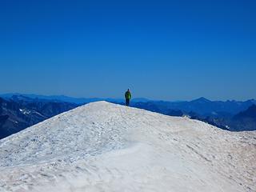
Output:
[[[256,191],[256,131],[94,102],[0,140],[0,191]]]

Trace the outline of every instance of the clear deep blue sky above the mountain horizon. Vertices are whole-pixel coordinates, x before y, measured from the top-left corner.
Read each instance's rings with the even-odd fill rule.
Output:
[[[256,2],[0,0],[0,93],[256,98]]]

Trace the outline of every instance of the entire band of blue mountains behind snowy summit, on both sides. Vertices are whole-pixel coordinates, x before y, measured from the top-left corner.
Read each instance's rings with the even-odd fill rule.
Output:
[[[118,98],[71,98],[36,94],[0,95],[0,138],[89,102],[107,101],[124,104]],[[132,99],[131,106],[170,116],[188,116],[224,130],[256,130],[256,101],[210,101],[198,98],[190,102]]]

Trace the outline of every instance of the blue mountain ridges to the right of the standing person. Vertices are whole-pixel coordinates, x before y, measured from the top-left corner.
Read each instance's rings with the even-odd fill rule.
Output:
[[[256,130],[256,101],[134,102],[132,106],[171,116],[188,116],[224,130]]]

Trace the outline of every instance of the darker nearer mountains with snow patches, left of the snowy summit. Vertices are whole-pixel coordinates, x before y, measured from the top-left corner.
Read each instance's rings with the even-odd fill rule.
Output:
[[[70,102],[54,102],[22,95],[0,98],[0,139],[77,106]]]

